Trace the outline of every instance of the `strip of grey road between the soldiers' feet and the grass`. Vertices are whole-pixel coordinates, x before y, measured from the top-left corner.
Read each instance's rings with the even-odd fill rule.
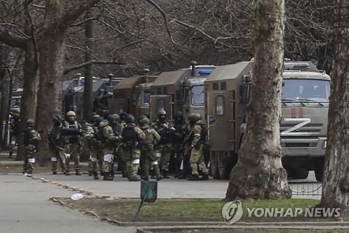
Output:
[[[140,182],[129,182],[117,175],[114,181],[94,181],[91,176],[64,176],[52,174],[38,174],[38,178],[57,181],[72,185],[90,192],[112,197],[140,197]],[[292,190],[297,190],[293,197],[320,199],[320,183],[315,181],[313,172],[305,180],[290,180]],[[228,181],[186,181],[177,178],[164,179],[158,182],[158,198],[216,198],[223,199],[228,188]],[[319,189],[318,189],[319,188]],[[314,196],[304,195],[308,190],[316,190]]]

